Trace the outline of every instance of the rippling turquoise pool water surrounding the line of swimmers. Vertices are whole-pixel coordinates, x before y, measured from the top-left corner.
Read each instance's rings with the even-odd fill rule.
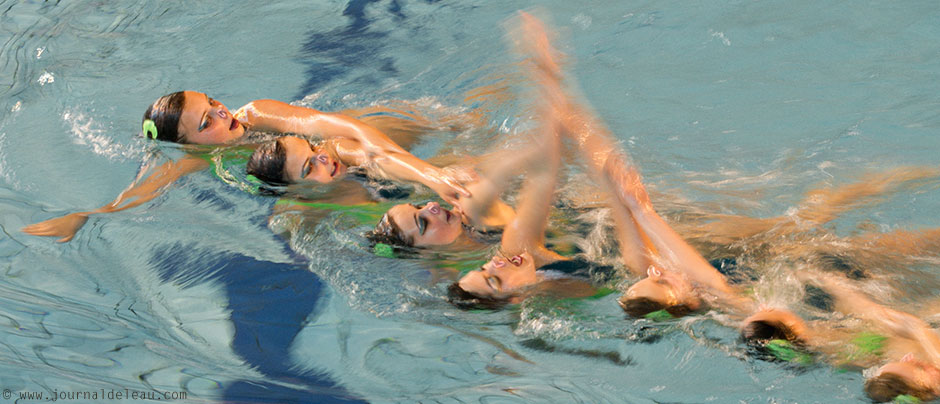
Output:
[[[298,226],[208,172],[93,217],[68,244],[19,231],[107,203],[159,159],[136,136],[140,116],[178,89],[230,108],[482,112],[483,127],[432,139],[478,151],[479,138],[524,127],[523,101],[465,98],[515,77],[503,24],[532,6],[552,16],[583,96],[652,188],[686,206],[781,215],[809,189],[940,155],[934,2],[555,3],[0,2],[0,387],[241,402],[864,401],[858,373],[755,360],[711,315],[634,322],[616,294],[461,312],[425,263],[363,251],[365,226]],[[938,209],[928,182],[829,230],[937,227]],[[922,265],[935,279],[936,261]]]

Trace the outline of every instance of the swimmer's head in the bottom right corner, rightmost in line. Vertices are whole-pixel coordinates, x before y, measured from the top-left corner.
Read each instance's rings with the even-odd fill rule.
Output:
[[[940,396],[940,369],[906,355],[888,363],[865,381],[865,393],[873,400],[886,402],[899,395],[930,401]]]

